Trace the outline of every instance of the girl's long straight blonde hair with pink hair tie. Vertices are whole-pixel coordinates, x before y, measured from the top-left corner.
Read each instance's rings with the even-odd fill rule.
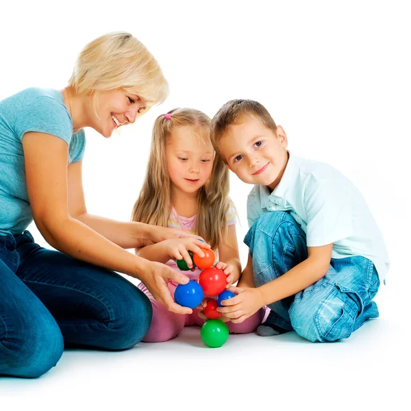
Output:
[[[134,204],[132,220],[167,227],[171,212],[171,180],[167,172],[166,142],[174,127],[191,125],[199,129],[197,138],[210,138],[211,119],[199,110],[176,108],[155,119],[151,153],[145,182]],[[215,156],[208,182],[199,189],[196,234],[216,249],[227,240],[226,212],[229,208],[229,174],[220,156]]]

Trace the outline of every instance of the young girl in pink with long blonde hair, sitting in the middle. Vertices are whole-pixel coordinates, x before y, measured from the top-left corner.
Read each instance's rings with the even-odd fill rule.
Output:
[[[241,273],[236,240],[236,211],[228,198],[229,174],[221,160],[214,159],[210,140],[210,118],[199,110],[177,108],[159,116],[154,123],[151,154],[145,182],[133,210],[133,220],[141,223],[184,229],[207,240],[216,253],[216,268],[227,275],[227,288]],[[200,253],[203,244],[193,238],[164,240],[136,249],[138,256],[164,262],[178,270],[175,260],[186,260],[188,251]],[[187,273],[187,272],[185,272]],[[197,279],[201,271],[188,271]],[[169,282],[174,295],[177,283]],[[176,314],[155,301],[143,284],[153,306],[153,318],[145,342],[161,342],[177,336],[186,325],[203,325],[199,310]],[[228,322],[229,332],[253,332],[261,323],[261,309],[241,324]]]

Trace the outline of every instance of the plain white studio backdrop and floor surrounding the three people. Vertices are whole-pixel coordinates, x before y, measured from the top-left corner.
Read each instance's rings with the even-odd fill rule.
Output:
[[[333,164],[360,188],[392,266],[376,299],[380,318],[343,343],[312,345],[295,334],[232,336],[231,346],[218,351],[203,349],[198,332],[189,329],[169,343],[140,344],[125,353],[65,351],[58,366],[38,380],[0,378],[0,408],[40,407],[42,398],[43,409],[69,403],[78,410],[246,404],[358,410],[395,403],[401,405],[393,409],[405,409],[411,228],[407,2],[11,4],[0,9],[0,99],[30,86],[63,88],[82,47],[112,31],[139,38],[169,80],[166,103],[120,136],[105,140],[86,129],[89,212],[129,220],[158,114],[187,106],[213,116],[229,99],[256,99],[284,127],[292,151]],[[235,175],[231,184],[244,264],[251,187]],[[34,225],[29,229],[46,245]],[[3,408],[8,401],[11,408]]]

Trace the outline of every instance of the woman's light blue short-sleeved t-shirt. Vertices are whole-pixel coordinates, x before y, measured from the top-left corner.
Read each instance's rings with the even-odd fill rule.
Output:
[[[84,130],[73,123],[62,93],[27,88],[0,101],[0,236],[21,234],[33,221],[21,139],[27,132],[52,134],[69,145],[69,164],[83,159]]]

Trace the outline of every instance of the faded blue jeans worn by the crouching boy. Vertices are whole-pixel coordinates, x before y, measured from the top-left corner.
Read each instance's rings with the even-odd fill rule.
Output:
[[[266,212],[244,242],[253,259],[254,281],[262,286],[308,256],[306,234],[287,212]],[[305,290],[269,304],[270,322],[307,340],[348,338],[364,321],[379,316],[371,301],[379,288],[373,262],[362,256],[332,258],[327,274]]]

